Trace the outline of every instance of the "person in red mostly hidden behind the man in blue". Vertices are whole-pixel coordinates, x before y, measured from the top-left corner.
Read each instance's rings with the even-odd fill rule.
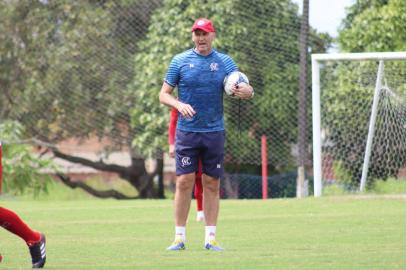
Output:
[[[169,144],[169,156],[175,157],[175,133],[176,124],[178,123],[178,111],[175,108],[171,109],[169,127],[168,127],[168,144]],[[196,172],[194,195],[197,204],[197,221],[204,221],[203,212],[203,185],[202,185],[202,162],[199,160],[199,166]]]

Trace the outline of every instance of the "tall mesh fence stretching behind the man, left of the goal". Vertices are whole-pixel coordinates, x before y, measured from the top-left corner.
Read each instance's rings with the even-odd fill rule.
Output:
[[[2,1],[0,118],[24,126],[21,141],[68,162],[58,174],[67,184],[90,168],[117,174],[141,197],[162,196],[172,167],[162,159],[169,110],[158,92],[170,58],[193,46],[198,17],[213,20],[214,46],[255,89],[250,101],[224,98],[225,197],[258,196],[262,135],[270,192],[277,185],[276,197],[291,196],[295,177],[272,180],[297,170],[300,12],[290,0]],[[310,29],[309,53],[328,45]]]

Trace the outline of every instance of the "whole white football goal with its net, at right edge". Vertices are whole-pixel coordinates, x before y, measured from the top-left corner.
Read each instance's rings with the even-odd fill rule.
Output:
[[[406,179],[406,53],[312,55],[314,195]]]

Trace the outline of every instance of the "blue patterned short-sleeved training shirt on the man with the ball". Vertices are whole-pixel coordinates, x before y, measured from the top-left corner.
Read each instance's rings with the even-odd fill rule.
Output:
[[[224,130],[223,81],[238,70],[233,59],[216,50],[200,55],[194,49],[176,55],[168,68],[165,82],[178,86],[178,97],[190,104],[196,114],[185,118],[179,114],[177,129],[191,132]]]

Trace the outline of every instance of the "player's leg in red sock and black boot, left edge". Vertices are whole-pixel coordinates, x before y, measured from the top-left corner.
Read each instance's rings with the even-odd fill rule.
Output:
[[[30,250],[32,268],[44,267],[46,261],[44,234],[32,230],[16,213],[3,207],[0,207],[0,226],[25,241]],[[1,260],[0,255],[0,262]]]

